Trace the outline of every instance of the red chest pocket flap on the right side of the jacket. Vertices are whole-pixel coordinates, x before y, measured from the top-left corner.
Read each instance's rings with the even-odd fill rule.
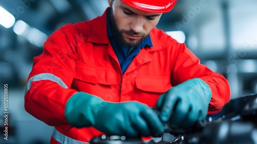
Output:
[[[172,87],[170,77],[136,77],[135,82],[144,92],[165,93]]]

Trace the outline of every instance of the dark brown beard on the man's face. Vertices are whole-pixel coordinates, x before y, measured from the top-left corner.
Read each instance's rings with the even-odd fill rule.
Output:
[[[146,34],[144,32],[135,32],[134,30],[130,29],[130,30],[125,30],[125,29],[121,29],[119,30],[118,28],[118,24],[114,18],[114,12],[113,12],[113,8],[111,8],[111,14],[110,14],[110,23],[111,23],[111,28],[112,28],[112,32],[114,35],[114,39],[116,40],[116,42],[118,42],[121,46],[124,47],[137,47],[146,37],[148,37],[149,33]],[[133,39],[128,39],[126,40],[122,33],[128,34],[128,35],[136,35],[138,37],[142,37],[139,40],[133,40]]]

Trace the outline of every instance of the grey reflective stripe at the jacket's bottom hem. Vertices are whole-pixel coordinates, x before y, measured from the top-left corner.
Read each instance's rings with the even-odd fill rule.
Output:
[[[79,141],[76,139],[72,139],[70,137],[67,137],[66,135],[60,133],[56,129],[53,130],[52,137],[62,143],[62,144],[88,144],[87,142]]]

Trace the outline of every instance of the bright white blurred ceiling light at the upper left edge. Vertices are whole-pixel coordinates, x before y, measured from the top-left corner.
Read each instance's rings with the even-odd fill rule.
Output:
[[[0,6],[0,25],[4,26],[5,28],[10,28],[14,25],[14,23],[15,17]]]

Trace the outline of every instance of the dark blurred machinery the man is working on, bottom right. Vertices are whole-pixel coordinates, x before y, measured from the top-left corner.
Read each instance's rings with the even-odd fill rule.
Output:
[[[207,117],[196,122],[190,129],[174,129],[166,123],[167,133],[159,141],[145,142],[140,138],[101,135],[90,140],[90,144],[257,144],[257,94],[232,99],[216,117]]]

